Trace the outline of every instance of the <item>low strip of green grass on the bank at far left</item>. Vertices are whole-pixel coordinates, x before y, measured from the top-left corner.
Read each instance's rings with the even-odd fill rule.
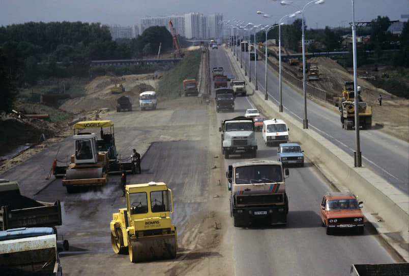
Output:
[[[62,110],[33,102],[14,102],[13,108],[23,114],[49,114],[50,121],[58,123],[70,119],[70,115]]]

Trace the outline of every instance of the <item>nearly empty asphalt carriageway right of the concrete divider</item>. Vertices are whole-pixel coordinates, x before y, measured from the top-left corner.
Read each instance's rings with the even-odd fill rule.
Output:
[[[242,55],[244,63],[243,52]],[[248,56],[246,56],[246,59],[248,61]],[[264,60],[259,60],[256,64],[258,89],[260,91],[265,91]],[[254,61],[252,61],[251,64],[251,74],[252,82],[254,82]],[[268,70],[267,78],[269,100],[273,100],[278,104],[278,76]],[[341,89],[342,87],[339,88],[339,91],[341,91]],[[304,97],[284,82],[282,82],[282,102],[284,112],[290,114],[301,122],[303,121]],[[329,103],[328,108],[325,108],[307,98],[307,118],[309,121],[309,128],[314,129],[354,158],[354,152],[356,151],[355,130],[347,131],[341,127],[337,108],[331,106]],[[403,193],[408,194],[409,144],[376,130],[375,127],[371,130],[360,130],[359,133],[363,166],[370,167],[376,174],[383,177]]]

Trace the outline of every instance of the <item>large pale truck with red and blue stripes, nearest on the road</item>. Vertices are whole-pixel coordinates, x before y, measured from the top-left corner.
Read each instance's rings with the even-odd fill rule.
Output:
[[[233,163],[226,172],[230,191],[230,215],[235,227],[254,222],[286,224],[288,197],[282,163],[252,160]],[[288,168],[285,175],[289,175]]]

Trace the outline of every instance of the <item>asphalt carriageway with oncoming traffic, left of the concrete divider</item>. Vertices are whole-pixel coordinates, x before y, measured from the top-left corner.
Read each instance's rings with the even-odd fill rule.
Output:
[[[221,50],[212,51],[211,67],[229,68],[228,63],[222,63],[226,60],[223,55],[225,53]],[[235,112],[219,113],[219,121],[243,115],[245,109],[252,107],[248,97],[237,97]],[[277,147],[265,146],[260,132],[256,133],[256,138],[257,158],[276,160]],[[249,156],[233,155],[225,160],[226,168],[247,158]],[[353,263],[394,262],[378,243],[376,235],[367,229],[363,235],[355,232],[326,235],[318,212],[322,196],[332,191],[332,187],[313,164],[308,159],[306,161],[305,167],[290,168],[286,179],[289,197],[287,226],[240,228],[233,227],[230,220],[236,275],[319,275],[329,271],[332,275],[345,275]]]

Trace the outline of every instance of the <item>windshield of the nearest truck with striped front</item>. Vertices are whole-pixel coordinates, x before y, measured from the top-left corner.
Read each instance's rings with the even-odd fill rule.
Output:
[[[279,165],[257,165],[236,167],[236,184],[282,182]]]

